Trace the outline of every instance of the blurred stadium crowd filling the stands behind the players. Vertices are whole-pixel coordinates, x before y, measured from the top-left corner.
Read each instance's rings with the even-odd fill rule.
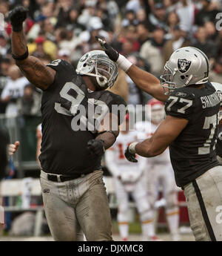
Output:
[[[160,76],[164,63],[179,47],[193,45],[209,57],[209,78],[221,82],[222,30],[217,30],[220,0],[10,0],[0,1],[4,31],[0,33],[0,114],[40,115],[41,91],[24,78],[10,56],[9,11],[29,9],[24,31],[31,55],[46,64],[66,59],[75,67],[89,50],[100,49],[104,36],[140,68]],[[144,104],[149,95],[121,72],[112,91],[128,104]]]

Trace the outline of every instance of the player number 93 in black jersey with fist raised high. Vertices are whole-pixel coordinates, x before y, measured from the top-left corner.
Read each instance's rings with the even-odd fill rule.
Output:
[[[112,111],[125,108],[124,99],[104,91],[114,84],[117,65],[95,50],[81,57],[76,70],[61,59],[45,66],[28,54],[26,17],[24,7],[10,12],[12,53],[24,76],[43,91],[40,181],[50,232],[55,240],[82,240],[81,230],[87,240],[112,240],[101,157],[124,119],[120,108]]]

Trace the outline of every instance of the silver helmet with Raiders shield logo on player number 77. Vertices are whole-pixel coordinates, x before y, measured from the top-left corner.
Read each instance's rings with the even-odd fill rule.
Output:
[[[209,59],[195,47],[175,50],[164,66],[161,85],[169,91],[208,82]],[[168,92],[166,92],[167,94]]]

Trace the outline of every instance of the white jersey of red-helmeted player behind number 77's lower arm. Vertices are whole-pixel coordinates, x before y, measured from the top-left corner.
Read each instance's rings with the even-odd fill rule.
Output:
[[[155,133],[155,130],[158,128],[158,125],[152,124],[152,122],[137,122],[135,124],[135,130],[137,131],[138,140],[141,142],[143,140],[149,139]],[[169,157],[169,148],[156,156],[147,158],[148,165],[156,164],[171,164]]]

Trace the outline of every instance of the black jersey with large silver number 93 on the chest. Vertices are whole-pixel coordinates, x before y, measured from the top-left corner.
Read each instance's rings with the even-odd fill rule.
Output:
[[[110,91],[88,91],[82,76],[64,60],[57,59],[48,66],[56,73],[53,85],[43,91],[41,99],[42,169],[72,175],[101,168],[101,157],[90,155],[87,142],[97,136],[95,121],[111,112],[112,105],[125,107],[126,102]]]

